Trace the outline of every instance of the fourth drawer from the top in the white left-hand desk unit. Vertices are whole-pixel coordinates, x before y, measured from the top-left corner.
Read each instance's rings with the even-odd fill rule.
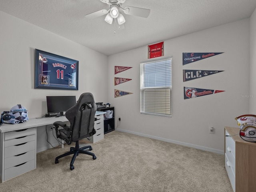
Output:
[[[17,156],[6,158],[4,162],[4,169],[8,169],[10,167],[20,165],[30,160],[34,160],[35,158],[36,158],[35,150],[25,152]]]

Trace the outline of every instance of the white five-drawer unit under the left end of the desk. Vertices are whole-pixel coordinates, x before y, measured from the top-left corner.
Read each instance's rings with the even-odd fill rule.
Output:
[[[2,182],[36,168],[36,128],[1,133]]]

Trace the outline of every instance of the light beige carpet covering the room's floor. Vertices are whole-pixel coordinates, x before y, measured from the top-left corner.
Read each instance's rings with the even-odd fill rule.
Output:
[[[0,191],[232,192],[220,154],[120,131],[90,145],[97,159],[79,154],[72,171],[72,156],[58,164],[55,157],[74,143],[38,153],[37,168],[0,183]]]

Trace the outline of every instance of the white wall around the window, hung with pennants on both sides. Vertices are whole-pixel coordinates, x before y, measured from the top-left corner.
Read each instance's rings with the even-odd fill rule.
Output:
[[[249,112],[249,98],[241,96],[249,94],[249,32],[245,19],[164,41],[164,54],[173,64],[172,118],[140,114],[140,62],[148,60],[147,45],[109,56],[108,96],[115,116],[122,116],[118,129],[223,153],[224,126],[236,127],[234,118]],[[182,52],[224,53],[182,66]],[[114,75],[114,66],[132,68]],[[183,82],[183,69],[224,72]],[[114,77],[132,80],[114,86]],[[225,92],[184,100],[184,86]],[[114,98],[114,89],[133,94]],[[209,126],[215,134],[208,133]]]

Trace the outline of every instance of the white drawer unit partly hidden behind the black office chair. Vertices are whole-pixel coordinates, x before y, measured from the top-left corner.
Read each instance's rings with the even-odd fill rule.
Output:
[[[104,139],[104,115],[95,115],[97,120],[94,122],[94,129],[96,133],[90,137],[90,142],[95,143],[99,140]]]

